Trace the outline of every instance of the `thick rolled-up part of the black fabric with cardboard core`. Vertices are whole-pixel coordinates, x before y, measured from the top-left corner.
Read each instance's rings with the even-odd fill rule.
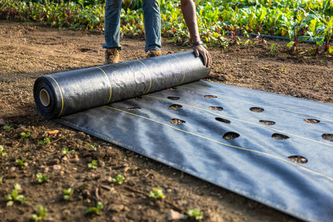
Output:
[[[66,71],[37,78],[33,95],[46,119],[205,78],[210,67],[193,51]]]

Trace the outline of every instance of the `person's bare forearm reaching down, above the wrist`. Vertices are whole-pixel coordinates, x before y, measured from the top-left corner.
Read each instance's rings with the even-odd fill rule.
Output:
[[[198,22],[196,21],[196,6],[193,0],[181,0],[182,15],[184,16],[191,42],[199,42],[200,35],[198,31]]]

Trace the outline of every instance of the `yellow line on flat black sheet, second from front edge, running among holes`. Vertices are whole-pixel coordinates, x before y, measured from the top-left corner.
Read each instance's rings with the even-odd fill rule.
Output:
[[[144,96],[151,97],[151,98],[154,98],[154,99],[160,99],[160,100],[165,100],[165,101],[171,101],[170,99],[164,99],[164,98],[155,97],[155,96],[148,96],[148,95],[144,95]],[[332,145],[331,145],[331,144],[326,144],[326,143],[324,143],[324,142],[320,142],[320,141],[317,141],[317,140],[314,140],[314,139],[310,139],[310,138],[307,138],[307,137],[302,137],[302,136],[300,136],[300,135],[294,135],[294,134],[292,134],[292,133],[284,132],[284,131],[282,131],[282,130],[277,130],[277,129],[272,128],[272,127],[269,127],[269,126],[265,126],[264,124],[253,123],[253,122],[246,121],[246,120],[241,120],[241,119],[236,119],[236,118],[233,118],[233,117],[228,117],[228,116],[225,116],[225,115],[223,115],[223,114],[219,114],[219,113],[216,113],[216,112],[212,112],[212,111],[210,111],[210,110],[205,110],[205,109],[203,109],[203,108],[198,108],[198,107],[193,106],[193,105],[187,105],[187,104],[185,104],[185,103],[177,103],[177,104],[179,104],[179,105],[183,105],[183,106],[188,106],[188,107],[190,107],[190,108],[194,108],[194,109],[196,109],[196,110],[203,110],[203,111],[205,111],[205,112],[210,112],[210,113],[212,113],[212,114],[214,114],[214,115],[216,115],[216,116],[219,116],[219,117],[225,117],[225,118],[228,118],[228,119],[233,119],[233,120],[241,121],[241,122],[244,122],[244,123],[250,123],[250,124],[253,124],[253,125],[257,125],[257,126],[261,126],[261,127],[264,127],[264,128],[268,128],[268,129],[274,130],[274,131],[279,132],[279,133],[288,134],[288,135],[291,135],[291,136],[293,136],[293,137],[298,137],[298,138],[302,138],[302,139],[307,139],[307,140],[309,140],[309,141],[311,141],[311,142],[316,142],[316,143],[319,143],[319,144],[324,144],[324,145],[332,146],[332,147],[333,147],[333,144],[332,144]]]

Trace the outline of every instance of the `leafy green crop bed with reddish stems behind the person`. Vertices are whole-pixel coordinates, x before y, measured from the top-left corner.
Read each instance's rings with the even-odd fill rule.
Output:
[[[105,0],[0,0],[0,17],[47,22],[58,28],[102,29]],[[208,46],[228,46],[224,35],[260,33],[309,40],[333,52],[332,0],[196,0],[200,35]],[[144,35],[142,0],[123,0],[121,33]],[[162,34],[187,44],[179,0],[160,0]]]

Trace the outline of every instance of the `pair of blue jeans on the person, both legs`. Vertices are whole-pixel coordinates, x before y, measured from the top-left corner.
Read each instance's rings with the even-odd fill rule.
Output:
[[[105,44],[103,48],[118,48],[120,35],[120,13],[122,0],[107,0],[105,3]],[[161,49],[161,15],[158,0],[143,0],[144,30],[146,46],[144,51]]]

